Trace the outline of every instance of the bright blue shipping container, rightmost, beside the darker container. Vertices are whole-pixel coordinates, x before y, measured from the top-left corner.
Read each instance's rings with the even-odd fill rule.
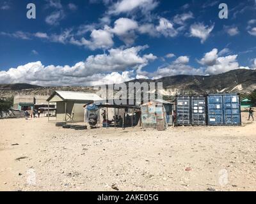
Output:
[[[209,94],[207,96],[208,125],[241,125],[238,94]]]

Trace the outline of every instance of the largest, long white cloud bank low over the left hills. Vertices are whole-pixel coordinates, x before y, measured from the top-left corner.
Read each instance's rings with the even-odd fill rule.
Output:
[[[97,85],[120,83],[132,79],[132,69],[142,68],[156,59],[153,54],[140,55],[147,46],[116,48],[108,54],[91,55],[74,66],[44,66],[30,62],[0,71],[0,84]],[[127,71],[128,70],[128,71]]]

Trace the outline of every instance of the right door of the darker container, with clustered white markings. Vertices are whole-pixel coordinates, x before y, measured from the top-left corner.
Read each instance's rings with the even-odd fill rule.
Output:
[[[191,96],[191,124],[206,126],[206,107],[204,96]]]

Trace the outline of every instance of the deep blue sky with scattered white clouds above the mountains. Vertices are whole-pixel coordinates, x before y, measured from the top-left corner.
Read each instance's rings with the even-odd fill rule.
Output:
[[[28,19],[28,3],[36,19]],[[220,19],[219,4],[228,5]],[[0,84],[99,85],[256,68],[256,0],[0,0]]]

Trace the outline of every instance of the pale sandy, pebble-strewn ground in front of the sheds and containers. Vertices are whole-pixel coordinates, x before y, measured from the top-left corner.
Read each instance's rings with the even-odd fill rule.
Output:
[[[245,116],[241,127],[167,131],[3,119],[0,191],[255,191],[256,123]]]

